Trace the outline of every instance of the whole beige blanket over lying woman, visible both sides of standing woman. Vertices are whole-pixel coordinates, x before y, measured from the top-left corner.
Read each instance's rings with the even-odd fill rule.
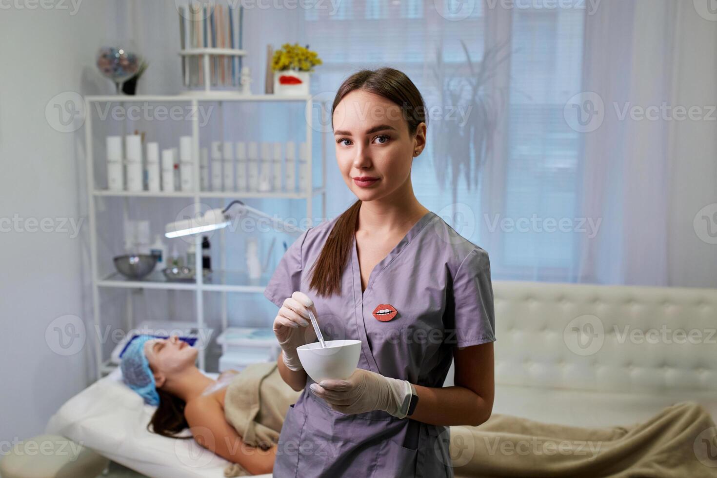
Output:
[[[255,363],[229,383],[224,416],[244,442],[267,449],[300,394],[276,363]],[[628,426],[583,428],[493,414],[480,426],[450,431],[455,478],[717,477],[717,427],[690,401]],[[249,475],[239,464],[224,469],[225,477]]]

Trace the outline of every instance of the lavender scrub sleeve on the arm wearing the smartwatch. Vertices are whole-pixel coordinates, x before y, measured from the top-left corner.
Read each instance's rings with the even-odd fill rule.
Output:
[[[455,343],[458,348],[495,341],[493,285],[488,252],[473,249],[453,278]]]

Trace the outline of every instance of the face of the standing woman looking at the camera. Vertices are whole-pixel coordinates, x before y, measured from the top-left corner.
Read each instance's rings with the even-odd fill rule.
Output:
[[[343,181],[361,201],[389,196],[407,183],[414,153],[425,145],[425,123],[409,135],[401,108],[364,90],[353,90],[338,103],[333,129]]]

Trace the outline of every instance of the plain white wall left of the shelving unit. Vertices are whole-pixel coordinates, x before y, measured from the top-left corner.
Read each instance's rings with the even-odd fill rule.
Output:
[[[114,34],[115,4],[88,1],[75,9],[72,2],[50,2],[67,9],[42,9],[41,3],[47,4],[4,2],[0,10],[0,454],[9,441],[42,432],[91,376],[88,345],[63,356],[53,351],[63,351],[59,336],[50,330],[45,338],[57,317],[92,321],[82,297],[86,239],[63,224],[86,221],[78,194],[85,181],[77,167],[84,161],[82,130],[61,133],[52,127],[57,111],[47,120],[45,109],[62,92],[113,90],[94,59],[100,42]],[[8,223],[15,217],[19,226]]]

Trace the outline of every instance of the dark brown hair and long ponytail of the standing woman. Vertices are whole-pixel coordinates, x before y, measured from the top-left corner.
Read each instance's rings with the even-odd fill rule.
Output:
[[[344,80],[333,99],[331,128],[333,128],[333,112],[338,103],[354,90],[365,90],[399,105],[408,123],[410,135],[416,134],[420,123],[428,124],[426,105],[416,85],[404,72],[383,67],[378,70],[361,70]],[[341,274],[353,247],[353,234],[356,232],[359,209],[361,209],[361,200],[353,203],[341,216],[338,216],[318,259],[311,268],[309,287],[318,295],[328,297],[341,294]]]

